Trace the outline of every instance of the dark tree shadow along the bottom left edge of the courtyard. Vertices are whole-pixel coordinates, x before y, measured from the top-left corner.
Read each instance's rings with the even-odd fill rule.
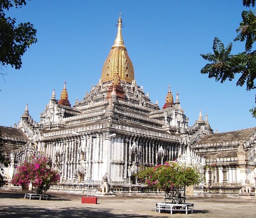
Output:
[[[22,217],[119,217],[119,218],[153,218],[155,216],[138,216],[136,214],[121,214],[116,215],[111,213],[111,210],[95,208],[37,208],[27,206],[2,206],[0,208],[0,217],[3,218],[22,218]]]

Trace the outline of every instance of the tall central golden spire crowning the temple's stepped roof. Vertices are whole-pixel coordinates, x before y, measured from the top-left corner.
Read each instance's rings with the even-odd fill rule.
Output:
[[[134,68],[122,37],[121,11],[118,19],[118,32],[114,44],[107,56],[101,72],[101,81],[112,80],[118,72],[121,80],[132,82],[134,80]]]

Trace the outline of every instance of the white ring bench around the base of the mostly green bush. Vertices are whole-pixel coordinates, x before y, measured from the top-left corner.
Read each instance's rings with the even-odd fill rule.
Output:
[[[173,211],[186,211],[186,214],[188,214],[188,211],[191,211],[191,214],[193,213],[194,204],[191,203],[183,203],[183,204],[173,204],[173,203],[156,203],[155,211],[158,210],[159,213],[161,213],[161,210],[170,211],[171,214],[173,214]]]

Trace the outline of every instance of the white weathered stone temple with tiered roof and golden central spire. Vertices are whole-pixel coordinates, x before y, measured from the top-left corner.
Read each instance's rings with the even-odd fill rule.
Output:
[[[90,181],[100,185],[102,178],[114,192],[147,191],[135,176],[139,167],[176,159],[199,167],[205,175],[194,194],[239,194],[248,181],[255,190],[256,127],[213,133],[201,111],[194,125],[188,126],[179,94],[174,102],[170,86],[162,109],[151,102],[136,83],[122,37],[121,14],[97,85],[73,106],[66,85],[59,100],[55,90],[52,96],[49,93],[39,122],[31,118],[27,105],[14,128],[0,127],[11,161],[11,167],[5,168],[6,186],[15,167],[35,154],[48,157],[59,171],[61,181],[51,187],[58,191],[85,192],[88,183],[92,186]]]

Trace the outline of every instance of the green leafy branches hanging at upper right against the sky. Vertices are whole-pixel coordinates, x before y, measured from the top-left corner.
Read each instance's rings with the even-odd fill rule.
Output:
[[[254,7],[255,0],[243,0],[246,7]],[[241,74],[236,85],[246,84],[246,90],[256,89],[256,51],[252,51],[253,43],[256,41],[256,14],[252,10],[242,11],[242,22],[236,30],[238,36],[234,41],[246,41],[245,51],[239,54],[231,54],[232,43],[225,48],[224,44],[218,39],[213,41],[213,54],[201,54],[202,58],[211,63],[201,69],[202,74],[208,74],[209,78],[215,78],[221,83],[226,79],[232,81],[235,74]],[[255,99],[256,102],[256,99]],[[253,117],[256,117],[256,107],[250,110]]]

